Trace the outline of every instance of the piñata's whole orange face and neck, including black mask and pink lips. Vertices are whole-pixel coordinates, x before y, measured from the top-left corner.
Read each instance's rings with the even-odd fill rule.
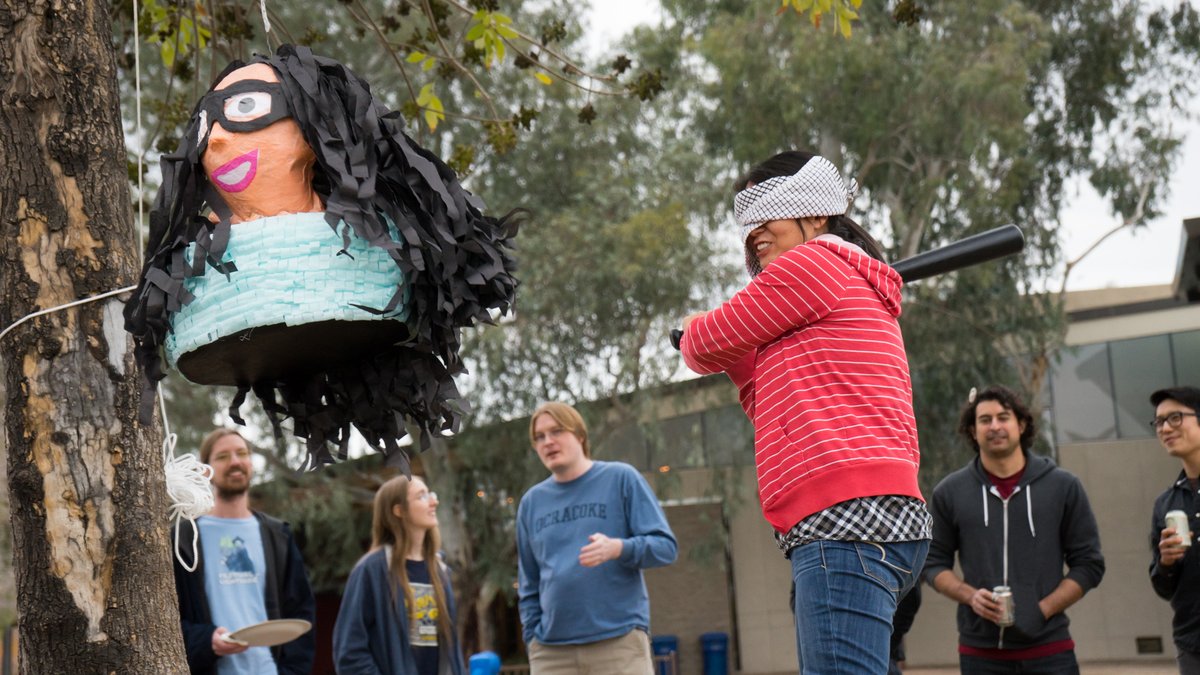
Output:
[[[312,149],[288,114],[275,70],[238,68],[200,104],[202,162],[233,222],[322,210],[312,190]]]

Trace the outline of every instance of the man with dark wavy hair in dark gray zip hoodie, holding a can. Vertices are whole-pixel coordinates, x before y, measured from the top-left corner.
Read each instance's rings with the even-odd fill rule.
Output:
[[[961,670],[1078,674],[1063,611],[1104,577],[1084,486],[1052,460],[1030,453],[1037,425],[1006,387],[972,393],[959,432],[978,456],[934,489],[934,540],[923,577],[961,605]],[[1012,589],[1012,625],[1001,626],[996,586]]]

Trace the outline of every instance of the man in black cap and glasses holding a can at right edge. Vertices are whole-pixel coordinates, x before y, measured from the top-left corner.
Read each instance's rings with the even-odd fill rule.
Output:
[[[1175,483],[1154,500],[1151,520],[1150,583],[1154,592],[1171,602],[1176,659],[1180,673],[1200,674],[1200,558],[1192,550],[1192,532],[1196,519],[1196,490],[1200,489],[1200,389],[1175,387],[1150,395],[1154,419],[1150,423],[1166,454],[1178,458],[1183,470]],[[1183,532],[1178,524],[1168,524],[1166,514],[1181,510],[1188,522]],[[1184,537],[1187,538],[1184,540]]]

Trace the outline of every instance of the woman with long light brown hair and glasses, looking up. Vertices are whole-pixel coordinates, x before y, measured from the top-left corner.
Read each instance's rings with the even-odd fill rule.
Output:
[[[463,675],[437,508],[416,476],[376,492],[371,550],[350,572],[334,626],[341,675]]]

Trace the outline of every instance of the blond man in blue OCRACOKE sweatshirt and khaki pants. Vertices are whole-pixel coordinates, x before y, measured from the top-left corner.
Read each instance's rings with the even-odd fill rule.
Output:
[[[551,476],[517,509],[521,623],[532,675],[652,675],[642,569],[674,562],[671,526],[644,478],[595,461],[574,407],[544,404],[529,441]]]

